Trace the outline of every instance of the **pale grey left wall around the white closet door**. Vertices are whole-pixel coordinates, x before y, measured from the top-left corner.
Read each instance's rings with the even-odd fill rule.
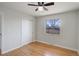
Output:
[[[1,49],[5,53],[21,46],[22,20],[24,17],[26,20],[34,20],[34,17],[3,7],[0,7],[0,12],[3,13]]]

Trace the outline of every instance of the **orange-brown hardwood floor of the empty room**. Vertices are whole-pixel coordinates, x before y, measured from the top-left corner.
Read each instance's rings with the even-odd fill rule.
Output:
[[[77,56],[77,52],[41,42],[32,42],[2,56]]]

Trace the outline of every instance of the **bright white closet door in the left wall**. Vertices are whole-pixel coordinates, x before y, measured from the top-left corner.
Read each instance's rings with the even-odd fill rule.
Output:
[[[32,41],[32,21],[22,20],[22,45]]]

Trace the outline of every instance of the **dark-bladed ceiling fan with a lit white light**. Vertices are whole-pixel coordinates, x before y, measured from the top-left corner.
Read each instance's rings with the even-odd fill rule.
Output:
[[[29,6],[38,6],[38,8],[35,9],[35,11],[48,11],[48,9],[45,6],[51,6],[54,5],[54,2],[49,2],[49,3],[45,3],[45,2],[37,2],[38,4],[28,4]]]

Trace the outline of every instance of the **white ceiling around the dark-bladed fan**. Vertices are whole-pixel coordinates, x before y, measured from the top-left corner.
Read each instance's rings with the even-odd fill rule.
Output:
[[[79,2],[55,2],[54,6],[52,5],[46,7],[48,11],[36,12],[35,9],[37,6],[28,6],[28,3],[37,4],[36,2],[0,2],[0,5],[30,14],[32,16],[44,16],[79,9]]]

